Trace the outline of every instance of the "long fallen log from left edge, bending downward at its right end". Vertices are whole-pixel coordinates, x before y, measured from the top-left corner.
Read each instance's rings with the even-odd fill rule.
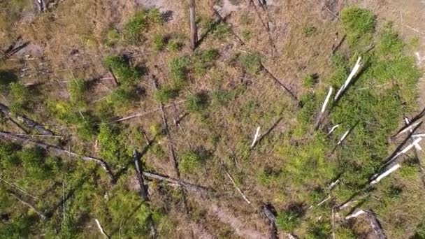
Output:
[[[75,159],[82,159],[84,161],[94,161],[96,164],[99,164],[99,166],[101,166],[106,174],[108,174],[111,182],[113,182],[113,184],[115,184],[115,178],[113,176],[112,171],[110,170],[110,167],[108,166],[108,164],[106,164],[106,161],[103,161],[103,159],[97,159],[94,157],[89,157],[89,156],[82,156],[80,154],[76,154],[75,152],[71,152],[69,150],[64,150],[60,147],[56,147],[53,145],[48,145],[45,143],[41,143],[41,142],[37,142],[34,140],[31,140],[29,138],[24,138],[21,136],[15,136],[12,133],[8,133],[8,132],[3,132],[0,131],[0,137],[5,139],[5,140],[13,140],[13,142],[20,142],[20,143],[29,143],[32,145],[36,145],[37,147],[41,147],[44,150],[48,150],[49,152],[51,152],[52,154],[55,154],[57,156],[62,156],[62,157],[72,157]]]

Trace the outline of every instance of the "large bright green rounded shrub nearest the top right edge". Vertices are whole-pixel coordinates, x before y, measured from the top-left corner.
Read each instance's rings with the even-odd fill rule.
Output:
[[[363,45],[370,44],[370,34],[375,31],[376,17],[372,11],[359,8],[358,6],[350,6],[341,11],[341,22],[347,32],[347,41],[349,45],[359,45],[359,41],[363,41]]]

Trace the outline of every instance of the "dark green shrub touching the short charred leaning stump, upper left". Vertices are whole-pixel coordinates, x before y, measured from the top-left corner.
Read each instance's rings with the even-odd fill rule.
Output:
[[[135,67],[130,66],[124,57],[108,56],[105,59],[105,65],[113,71],[120,84],[124,86],[133,85],[141,78],[141,73]]]

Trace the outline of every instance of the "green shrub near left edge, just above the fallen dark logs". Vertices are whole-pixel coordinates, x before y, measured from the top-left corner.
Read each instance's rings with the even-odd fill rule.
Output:
[[[27,110],[31,111],[34,102],[34,94],[22,83],[12,82],[10,83],[10,110],[13,113],[25,113]]]

